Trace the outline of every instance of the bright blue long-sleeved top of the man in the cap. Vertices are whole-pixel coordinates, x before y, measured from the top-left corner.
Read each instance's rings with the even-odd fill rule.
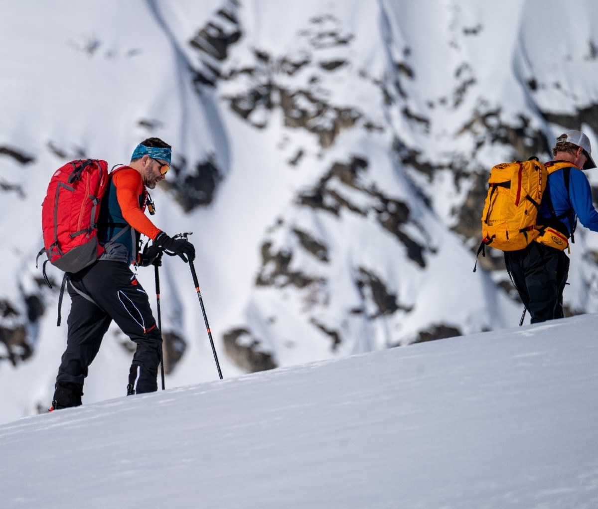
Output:
[[[598,232],[598,212],[592,203],[590,182],[581,170],[572,166],[569,173],[569,194],[567,194],[563,170],[564,168],[554,171],[548,176],[547,192],[550,192],[554,213],[560,216],[573,208],[575,216],[585,228]],[[545,198],[542,198],[539,215],[545,218],[551,217],[548,200]],[[575,223],[570,225],[566,218],[561,221],[570,234]]]

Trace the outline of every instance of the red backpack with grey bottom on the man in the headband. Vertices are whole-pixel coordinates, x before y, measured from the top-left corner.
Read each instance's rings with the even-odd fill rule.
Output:
[[[44,249],[38,257],[48,256],[44,269],[49,261],[62,271],[78,272],[102,254],[97,217],[108,182],[106,161],[71,161],[54,172],[41,209]]]

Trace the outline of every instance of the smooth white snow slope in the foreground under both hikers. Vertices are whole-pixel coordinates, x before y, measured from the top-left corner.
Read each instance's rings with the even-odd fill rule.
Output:
[[[0,427],[2,508],[598,507],[596,315]]]

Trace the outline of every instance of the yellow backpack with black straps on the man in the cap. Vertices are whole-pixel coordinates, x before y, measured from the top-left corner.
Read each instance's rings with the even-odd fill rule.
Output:
[[[483,240],[478,256],[480,252],[486,256],[486,246],[515,251],[527,247],[534,240],[556,249],[566,249],[569,246],[568,232],[559,225],[563,217],[573,217],[572,209],[556,216],[552,203],[549,203],[552,218],[543,220],[542,225],[538,225],[536,220],[548,185],[548,175],[565,168],[563,176],[569,192],[569,168],[572,166],[566,161],[544,165],[536,157],[494,166],[490,170],[488,194],[481,217]],[[573,223],[574,219],[572,231]]]

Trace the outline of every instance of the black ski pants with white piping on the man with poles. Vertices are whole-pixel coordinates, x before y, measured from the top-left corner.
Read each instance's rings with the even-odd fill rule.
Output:
[[[71,296],[68,338],[56,378],[55,395],[72,384],[83,392],[87,369],[112,320],[137,345],[129,372],[131,389],[128,392],[156,391],[161,333],[148,295],[129,266],[99,260],[76,274],[69,274],[68,292]]]

